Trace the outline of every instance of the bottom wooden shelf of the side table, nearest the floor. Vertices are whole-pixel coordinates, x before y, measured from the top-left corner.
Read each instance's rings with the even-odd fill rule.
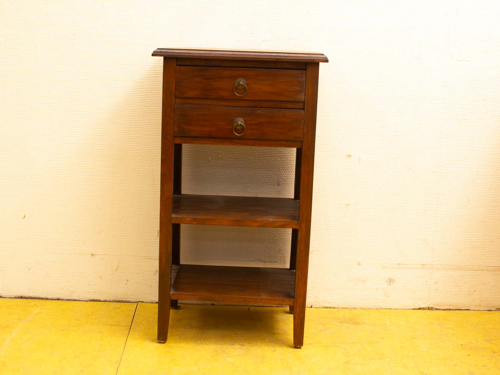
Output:
[[[171,299],[293,305],[295,271],[288,268],[172,265]]]

